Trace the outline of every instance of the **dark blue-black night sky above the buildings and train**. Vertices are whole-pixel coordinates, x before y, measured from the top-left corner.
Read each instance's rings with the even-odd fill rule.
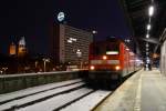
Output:
[[[97,39],[131,36],[118,0],[0,0],[0,53],[22,36],[29,52],[48,53],[49,29],[59,11],[68,24],[96,30]]]

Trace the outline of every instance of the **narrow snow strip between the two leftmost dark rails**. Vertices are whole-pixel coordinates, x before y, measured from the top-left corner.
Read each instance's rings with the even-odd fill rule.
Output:
[[[28,102],[31,102],[31,101],[39,100],[41,98],[45,98],[45,97],[56,94],[56,93],[60,93],[60,92],[63,92],[63,91],[66,91],[66,90],[70,90],[70,89],[76,88],[76,87],[81,87],[83,84],[84,84],[83,82],[80,82],[80,83],[75,83],[75,84],[72,84],[72,85],[62,87],[62,88],[58,88],[58,89],[53,89],[53,90],[48,90],[45,92],[41,92],[41,93],[33,94],[33,95],[30,95],[30,97],[25,97],[25,98],[22,98],[22,99],[13,100],[13,101],[7,102],[4,104],[1,104],[0,105],[0,111],[6,110],[6,109],[10,109],[13,105],[21,105],[21,104],[24,104],[24,103],[28,103]],[[38,88],[35,87],[35,89],[39,90],[39,89],[42,89],[42,87],[38,87]],[[35,89],[33,89],[33,90],[35,90]],[[22,91],[19,91],[20,94],[21,94],[21,92]],[[15,95],[17,95],[17,93],[15,93]],[[1,98],[3,100],[6,100],[4,97],[1,97]]]

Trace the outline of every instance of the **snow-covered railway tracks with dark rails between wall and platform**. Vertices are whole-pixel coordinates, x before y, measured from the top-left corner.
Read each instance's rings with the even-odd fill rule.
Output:
[[[82,80],[72,80],[1,94],[0,111],[71,111],[73,108],[85,111],[80,108],[90,110],[110,93],[86,88]]]

